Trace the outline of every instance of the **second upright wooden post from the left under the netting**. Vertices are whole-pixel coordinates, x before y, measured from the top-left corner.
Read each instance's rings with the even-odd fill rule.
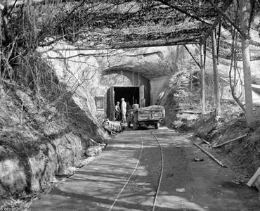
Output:
[[[221,115],[220,98],[219,98],[219,70],[216,56],[216,34],[212,31],[212,61],[213,61],[213,77],[214,77],[214,103],[216,116]]]

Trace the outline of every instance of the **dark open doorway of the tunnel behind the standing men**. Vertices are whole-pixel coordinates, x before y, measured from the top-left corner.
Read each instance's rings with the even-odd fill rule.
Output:
[[[139,104],[139,87],[114,87],[115,104],[117,101],[121,103],[121,98],[124,101],[129,101],[130,105]]]

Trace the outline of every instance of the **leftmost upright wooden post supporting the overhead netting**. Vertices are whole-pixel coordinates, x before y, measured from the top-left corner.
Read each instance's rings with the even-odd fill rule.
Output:
[[[201,71],[201,104],[202,104],[202,115],[206,113],[206,97],[205,97],[205,66],[204,66],[204,44],[200,45],[200,71]]]

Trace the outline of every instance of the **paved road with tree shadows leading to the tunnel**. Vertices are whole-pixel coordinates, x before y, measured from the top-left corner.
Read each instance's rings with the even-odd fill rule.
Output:
[[[193,146],[190,134],[166,128],[140,132],[139,165],[112,210],[152,209],[162,162],[151,131],[162,143],[164,155],[155,210],[260,210],[258,193],[230,182],[235,179],[230,168],[220,167]],[[99,158],[35,201],[30,210],[109,210],[136,167],[141,146],[139,132],[115,136]],[[195,156],[204,161],[193,162]]]

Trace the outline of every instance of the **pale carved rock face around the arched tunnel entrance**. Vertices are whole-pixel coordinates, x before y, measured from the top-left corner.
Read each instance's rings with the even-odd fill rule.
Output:
[[[90,112],[93,121],[105,116],[96,109],[95,102],[95,96],[106,96],[109,88],[100,83],[102,75],[113,70],[140,73],[150,79],[150,98],[155,103],[167,77],[183,66],[188,68],[191,61],[180,46],[90,51],[77,50],[63,43],[39,51],[45,52],[43,57],[56,70],[59,80],[74,93],[74,101],[79,107]]]

